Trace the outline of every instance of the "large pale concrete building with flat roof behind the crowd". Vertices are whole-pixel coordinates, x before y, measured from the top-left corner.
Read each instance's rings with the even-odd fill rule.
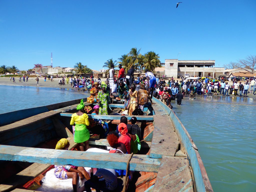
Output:
[[[162,63],[161,63],[162,64]],[[215,60],[178,60],[165,59],[164,65],[167,77],[178,78],[189,74],[190,77],[212,76],[218,77],[224,75],[224,67],[214,67]]]

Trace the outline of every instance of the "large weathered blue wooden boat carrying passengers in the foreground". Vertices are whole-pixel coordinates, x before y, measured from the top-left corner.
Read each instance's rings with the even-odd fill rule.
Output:
[[[122,107],[118,102],[110,104],[116,112]],[[213,191],[198,149],[183,124],[164,103],[155,98],[153,102],[144,108],[146,115],[136,116],[143,141],[142,150],[130,161],[130,170],[137,177],[129,191]],[[68,138],[69,150],[76,147],[69,122],[78,103],[79,99],[0,114],[0,191],[35,191],[33,184],[39,186],[55,164],[126,169],[130,154],[54,150],[59,138]],[[110,127],[116,127],[121,117],[88,116],[108,120]],[[129,120],[132,116],[126,117]],[[89,144],[109,145],[106,139],[98,138],[90,138]]]

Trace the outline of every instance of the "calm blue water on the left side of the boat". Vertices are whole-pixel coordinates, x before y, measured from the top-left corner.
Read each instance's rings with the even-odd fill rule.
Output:
[[[85,91],[84,93],[86,94],[87,92]],[[85,98],[86,95],[84,93],[65,88],[0,85],[0,114]]]

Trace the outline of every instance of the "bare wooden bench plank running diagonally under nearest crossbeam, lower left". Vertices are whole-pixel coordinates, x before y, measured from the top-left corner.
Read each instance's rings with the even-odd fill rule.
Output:
[[[74,142],[74,138],[68,137],[67,140],[69,140],[69,144],[70,144],[68,150],[71,150],[77,145],[77,143]],[[10,181],[8,180],[0,184],[0,192],[12,189],[18,185],[25,184],[29,180],[32,180],[38,175],[40,175],[50,166],[51,166],[50,164],[41,164],[41,163],[31,164],[26,169],[23,169],[21,172],[13,176]]]

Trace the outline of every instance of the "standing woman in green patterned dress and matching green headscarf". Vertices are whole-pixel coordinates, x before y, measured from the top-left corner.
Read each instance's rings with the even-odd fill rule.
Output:
[[[107,85],[102,83],[101,90],[98,92],[99,115],[108,115],[108,105],[110,103],[109,92],[106,90]]]

